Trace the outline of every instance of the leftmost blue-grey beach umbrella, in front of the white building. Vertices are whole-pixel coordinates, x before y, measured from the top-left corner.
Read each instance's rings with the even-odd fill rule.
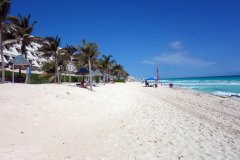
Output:
[[[21,67],[30,67],[32,64],[26,60],[22,55],[18,55],[14,59],[8,62],[7,66],[12,65],[12,82],[14,83],[14,67],[19,68],[21,73]],[[19,74],[20,76],[20,74]]]

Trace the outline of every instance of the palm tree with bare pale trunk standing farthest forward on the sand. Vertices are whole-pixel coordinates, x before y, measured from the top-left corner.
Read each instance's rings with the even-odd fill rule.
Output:
[[[96,58],[98,55],[100,55],[100,52],[97,52],[99,49],[99,45],[94,42],[88,42],[86,44],[85,39],[82,40],[82,45],[80,46],[78,44],[74,44],[77,51],[82,54],[83,59],[88,60],[88,66],[89,66],[89,75],[90,75],[90,90],[92,90],[92,72],[91,72],[91,60]]]

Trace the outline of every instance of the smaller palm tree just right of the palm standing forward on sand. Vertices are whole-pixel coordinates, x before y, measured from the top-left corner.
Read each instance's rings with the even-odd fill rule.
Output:
[[[103,73],[104,73],[104,85],[105,85],[105,73],[108,73],[108,69],[111,68],[113,65],[116,64],[115,60],[110,60],[112,55],[105,56],[102,55],[103,59],[99,59],[99,63],[103,68]]]

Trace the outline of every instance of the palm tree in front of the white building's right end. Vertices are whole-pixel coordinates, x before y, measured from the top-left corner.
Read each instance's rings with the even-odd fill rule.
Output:
[[[62,53],[65,53],[65,49],[60,48],[60,42],[61,38],[58,36],[54,37],[46,37],[45,38],[45,43],[42,45],[41,48],[39,48],[38,51],[43,52],[44,55],[43,57],[51,57],[53,56],[54,61],[55,61],[55,77],[54,77],[54,83],[56,83],[56,78],[59,76],[58,75],[58,58],[61,56]],[[59,78],[58,78],[58,83],[60,83]]]

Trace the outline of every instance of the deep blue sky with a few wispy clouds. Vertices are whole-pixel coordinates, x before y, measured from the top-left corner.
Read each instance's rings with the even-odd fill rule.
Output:
[[[132,77],[240,75],[237,0],[12,0],[18,13],[61,47],[96,42]]]

